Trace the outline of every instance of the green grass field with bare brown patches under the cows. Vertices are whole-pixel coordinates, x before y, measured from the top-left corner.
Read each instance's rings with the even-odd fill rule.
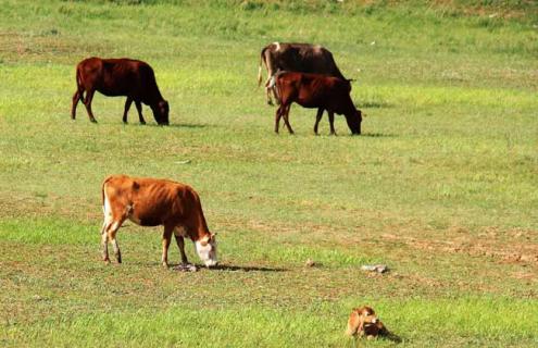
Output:
[[[364,303],[402,343],[360,346],[538,346],[538,5],[474,3],[2,1],[0,346],[352,347]],[[297,105],[273,133],[277,40],[333,51],[362,136]],[[149,62],[171,126],[101,95],[71,121],[89,55]],[[224,268],[164,270],[132,223],[103,264],[113,173],[192,185]]]

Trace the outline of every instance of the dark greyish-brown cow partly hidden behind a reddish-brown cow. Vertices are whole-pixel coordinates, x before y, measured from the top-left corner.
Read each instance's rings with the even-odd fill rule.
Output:
[[[273,42],[265,46],[260,54],[258,67],[258,85],[262,83],[262,62],[267,70],[265,94],[267,103],[271,100],[271,77],[280,71],[324,74],[346,79],[335,63],[333,53],[320,45]]]

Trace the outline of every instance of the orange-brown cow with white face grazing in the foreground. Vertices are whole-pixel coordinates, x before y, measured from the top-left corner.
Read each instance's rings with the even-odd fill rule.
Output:
[[[208,229],[198,194],[184,184],[157,178],[112,175],[102,184],[104,223],[101,229],[103,261],[110,262],[108,243],[122,263],[116,240],[117,229],[125,220],[140,226],[164,226],[162,264],[168,264],[168,247],[174,234],[182,263],[187,264],[184,237],[195,244],[200,260],[207,266],[216,265],[215,234]]]

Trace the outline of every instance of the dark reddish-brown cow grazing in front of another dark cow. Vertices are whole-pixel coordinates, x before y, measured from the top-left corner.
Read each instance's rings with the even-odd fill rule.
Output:
[[[284,116],[288,132],[293,134],[288,115],[291,103],[297,102],[304,108],[317,108],[315,134],[317,134],[317,125],[324,110],[327,110],[329,115],[331,135],[336,135],[335,112],[346,116],[353,135],[361,134],[362,112],[351,100],[349,80],[321,74],[279,72],[273,76],[270,87],[275,89],[280,103],[275,114],[275,133],[278,133],[280,117]]]

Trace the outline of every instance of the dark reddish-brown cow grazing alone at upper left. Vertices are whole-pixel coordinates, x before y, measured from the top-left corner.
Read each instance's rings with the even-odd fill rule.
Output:
[[[76,116],[76,105],[80,100],[86,107],[90,121],[97,122],[91,111],[91,100],[97,90],[108,97],[127,97],[123,113],[124,123],[127,123],[127,112],[134,101],[141,124],[146,124],[142,117],[142,102],[151,108],[158,124],[168,124],[168,102],[161,96],[155,75],[148,63],[125,58],[88,58],[76,66],[76,86],[71,109],[73,120]]]

